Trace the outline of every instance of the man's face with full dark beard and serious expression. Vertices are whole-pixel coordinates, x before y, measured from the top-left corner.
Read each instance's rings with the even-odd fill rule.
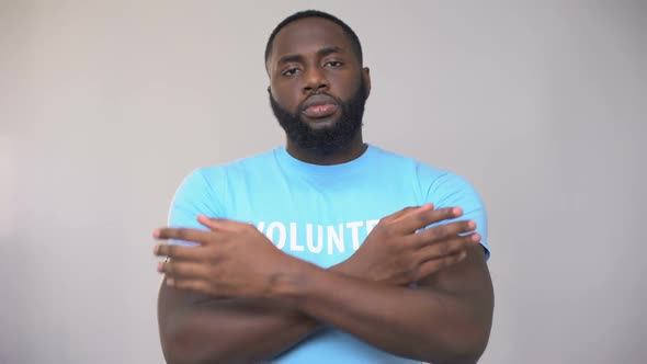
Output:
[[[274,115],[299,147],[332,151],[360,132],[368,71],[339,25],[318,18],[286,25],[266,66]]]

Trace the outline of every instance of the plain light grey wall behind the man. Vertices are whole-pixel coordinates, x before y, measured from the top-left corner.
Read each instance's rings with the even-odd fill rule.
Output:
[[[161,363],[151,254],[182,178],[283,143],[263,48],[330,11],[365,139],[490,219],[481,363],[647,357],[645,1],[0,2],[0,363]]]

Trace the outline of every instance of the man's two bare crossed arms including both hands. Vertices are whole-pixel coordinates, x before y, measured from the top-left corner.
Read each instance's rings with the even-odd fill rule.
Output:
[[[157,249],[171,257],[160,266],[164,356],[171,364],[270,360],[325,322],[396,355],[474,363],[487,343],[493,305],[478,235],[458,236],[474,223],[416,232],[457,215],[432,207],[394,214],[330,270],[281,253],[246,224],[203,218],[212,231],[162,229],[159,238],[201,243]],[[246,271],[236,270],[241,265]],[[418,287],[405,286],[411,282]]]

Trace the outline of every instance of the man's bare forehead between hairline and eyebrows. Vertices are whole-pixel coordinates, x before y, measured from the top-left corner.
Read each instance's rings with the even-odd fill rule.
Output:
[[[279,31],[269,60],[272,62],[285,55],[316,53],[322,47],[351,52],[351,43],[340,25],[321,18],[299,19]]]

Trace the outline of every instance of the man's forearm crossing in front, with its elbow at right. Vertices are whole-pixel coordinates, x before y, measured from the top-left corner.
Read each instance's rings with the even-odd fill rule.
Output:
[[[308,316],[396,355],[470,363],[487,343],[491,309],[478,307],[481,299],[473,293],[459,296],[429,287],[389,286],[314,266],[298,272],[284,287],[280,299],[287,298]]]

